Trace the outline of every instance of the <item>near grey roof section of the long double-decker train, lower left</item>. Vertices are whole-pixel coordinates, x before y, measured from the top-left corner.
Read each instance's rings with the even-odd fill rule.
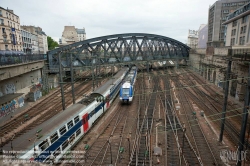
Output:
[[[80,111],[82,111],[85,107],[86,105],[83,105],[83,104],[74,104],[70,106],[69,108],[67,108],[66,110],[61,111],[59,114],[53,116],[49,120],[36,126],[35,128],[28,131],[27,133],[22,134],[21,136],[18,136],[17,138],[14,137],[12,141],[13,150],[14,151],[30,150],[34,146],[34,143],[35,145],[40,144],[48,136],[54,134],[56,130],[58,130],[62,126],[62,124],[66,124],[70,119],[74,119],[74,117],[76,117],[80,113]],[[38,134],[42,135],[42,137],[40,139],[36,139],[36,132],[40,129],[42,129],[42,131],[39,132]],[[7,151],[12,150],[11,142],[6,144],[3,147],[3,150],[7,150]]]

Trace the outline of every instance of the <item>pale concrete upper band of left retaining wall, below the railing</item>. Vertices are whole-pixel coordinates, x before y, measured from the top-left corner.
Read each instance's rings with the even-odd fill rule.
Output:
[[[29,73],[33,70],[38,70],[43,66],[44,61],[34,61],[25,64],[0,66],[0,81]]]

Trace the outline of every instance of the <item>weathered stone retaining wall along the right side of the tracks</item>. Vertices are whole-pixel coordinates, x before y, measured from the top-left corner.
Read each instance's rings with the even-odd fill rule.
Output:
[[[220,87],[221,91],[225,85],[225,74],[228,68],[228,61],[225,58],[228,55],[228,49],[228,47],[209,48],[206,54],[197,49],[195,53],[189,55],[189,66],[204,79]],[[234,59],[229,79],[229,94],[236,100],[244,99],[247,76],[248,65],[244,61]]]

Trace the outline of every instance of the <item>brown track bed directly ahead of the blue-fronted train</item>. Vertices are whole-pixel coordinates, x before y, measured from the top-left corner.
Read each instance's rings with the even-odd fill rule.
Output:
[[[135,87],[137,82],[138,80]],[[135,136],[137,101],[138,96],[134,96],[132,104],[121,104],[118,98],[115,99],[109,111],[98,119],[98,122],[73,148],[74,151],[86,152],[84,162],[76,165],[127,165],[132,148],[131,142]],[[84,149],[86,145],[89,146],[87,150]],[[64,160],[62,164],[67,165],[67,161]]]

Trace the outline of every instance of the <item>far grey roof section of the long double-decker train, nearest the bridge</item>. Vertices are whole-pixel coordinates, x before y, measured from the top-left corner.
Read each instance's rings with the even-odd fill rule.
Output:
[[[128,68],[122,68],[113,78],[108,80],[104,85],[102,85],[100,88],[95,90],[91,95],[92,96],[99,96],[104,95],[104,93],[107,91],[107,89],[111,89],[112,86],[116,83],[118,78],[121,78],[122,76],[125,76],[125,72],[128,71]]]

